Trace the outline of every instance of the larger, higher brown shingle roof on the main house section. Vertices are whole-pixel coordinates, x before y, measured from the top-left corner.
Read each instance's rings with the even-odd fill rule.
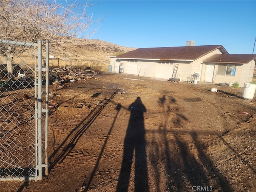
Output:
[[[216,49],[228,54],[222,45],[139,48],[116,58],[152,60],[196,60]]]

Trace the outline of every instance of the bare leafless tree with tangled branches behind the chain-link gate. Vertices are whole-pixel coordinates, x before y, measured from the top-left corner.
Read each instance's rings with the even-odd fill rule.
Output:
[[[59,46],[69,42],[72,37],[87,38],[96,32],[102,18],[93,20],[93,14],[86,12],[92,4],[88,0],[84,2],[0,1],[0,39],[25,42],[48,39],[50,44]],[[96,27],[94,24],[97,24]],[[12,74],[13,57],[22,52],[24,48],[0,44],[0,56],[7,63],[9,74]]]

